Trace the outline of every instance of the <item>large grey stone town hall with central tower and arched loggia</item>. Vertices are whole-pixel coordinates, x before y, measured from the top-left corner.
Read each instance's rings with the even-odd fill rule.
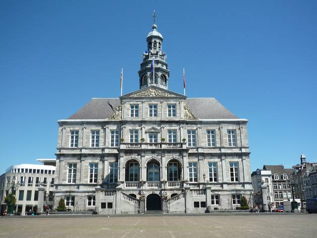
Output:
[[[248,120],[215,98],[170,91],[156,24],[146,41],[139,90],[92,98],[58,120],[56,190],[46,202],[98,214],[238,209],[243,197],[252,205]]]

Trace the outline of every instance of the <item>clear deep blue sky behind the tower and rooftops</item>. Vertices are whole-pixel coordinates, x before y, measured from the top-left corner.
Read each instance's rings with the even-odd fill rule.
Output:
[[[316,156],[317,1],[0,1],[0,173],[55,158],[58,119],[138,89],[152,12],[169,89],[249,119],[251,170]]]

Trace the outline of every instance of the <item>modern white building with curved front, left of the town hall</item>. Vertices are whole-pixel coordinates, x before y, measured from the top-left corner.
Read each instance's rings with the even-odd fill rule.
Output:
[[[26,212],[36,212],[40,185],[45,187],[46,193],[54,190],[55,179],[55,159],[41,159],[44,165],[34,164],[21,164],[10,166],[4,174],[0,176],[0,206],[1,214],[3,213],[6,205],[4,203],[4,197],[11,192],[7,188],[8,183],[12,181],[17,184],[17,190],[15,191],[16,205],[15,213],[25,215]],[[53,165],[46,165],[47,163]]]

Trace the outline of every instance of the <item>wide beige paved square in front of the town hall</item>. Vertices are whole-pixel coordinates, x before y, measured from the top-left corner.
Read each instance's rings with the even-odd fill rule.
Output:
[[[1,238],[317,238],[317,214],[0,218]]]

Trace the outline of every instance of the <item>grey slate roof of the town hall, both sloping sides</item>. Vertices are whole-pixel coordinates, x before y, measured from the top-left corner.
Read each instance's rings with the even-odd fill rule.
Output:
[[[107,119],[120,104],[118,98],[93,98],[68,119]],[[187,98],[186,105],[198,119],[238,119],[215,98]]]

